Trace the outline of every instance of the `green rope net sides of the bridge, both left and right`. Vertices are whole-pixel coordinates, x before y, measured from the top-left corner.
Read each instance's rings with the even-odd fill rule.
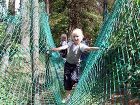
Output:
[[[55,44],[45,4],[21,4],[18,15],[0,15],[0,104],[63,105],[64,61],[49,50]],[[102,50],[89,54],[67,104],[140,105],[139,0],[115,1],[95,46]]]

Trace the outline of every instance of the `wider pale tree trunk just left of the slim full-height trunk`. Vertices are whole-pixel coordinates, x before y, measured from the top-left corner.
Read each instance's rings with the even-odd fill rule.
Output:
[[[22,0],[21,1],[21,52],[24,56],[25,62],[30,62],[30,2],[29,0]]]

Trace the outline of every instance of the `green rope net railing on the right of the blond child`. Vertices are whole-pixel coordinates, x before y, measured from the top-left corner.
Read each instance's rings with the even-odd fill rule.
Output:
[[[139,1],[115,1],[69,105],[140,104],[139,16]]]

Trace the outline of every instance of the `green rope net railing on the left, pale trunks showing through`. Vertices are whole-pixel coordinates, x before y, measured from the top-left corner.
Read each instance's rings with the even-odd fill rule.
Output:
[[[63,71],[63,60],[59,53],[49,51],[55,44],[48,15],[45,13],[45,4],[34,3],[35,1],[22,1],[20,14],[1,18],[2,105],[61,104],[62,75],[58,76],[58,73]],[[36,17],[33,16],[36,9],[39,17],[37,14]]]

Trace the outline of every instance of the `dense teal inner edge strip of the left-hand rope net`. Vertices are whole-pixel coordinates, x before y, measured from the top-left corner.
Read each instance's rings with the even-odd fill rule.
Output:
[[[48,16],[47,14],[42,11],[41,12],[41,35],[44,37],[44,39],[46,39],[46,50],[48,50],[48,60],[46,62],[46,64],[48,63],[49,66],[46,66],[46,71],[48,71],[48,73],[46,73],[46,78],[47,79],[52,79],[51,81],[48,81],[46,85],[51,85],[50,90],[53,92],[53,96],[55,97],[55,101],[57,101],[57,104],[61,104],[61,96],[62,96],[62,78],[63,78],[63,60],[60,57],[58,52],[51,52],[49,51],[50,48],[55,47],[53,38],[52,38],[52,34],[50,31],[50,27],[49,27],[49,23],[46,24],[46,21],[48,21]],[[47,51],[46,51],[47,52]],[[49,68],[48,68],[49,67]],[[51,75],[50,73],[51,72]],[[51,78],[48,78],[50,77]],[[61,86],[61,87],[60,87]]]

